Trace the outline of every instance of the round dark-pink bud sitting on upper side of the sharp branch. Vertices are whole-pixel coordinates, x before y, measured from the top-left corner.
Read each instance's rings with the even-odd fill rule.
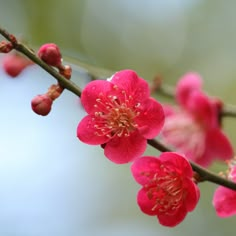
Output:
[[[62,57],[59,47],[54,43],[47,43],[40,47],[38,57],[50,66],[61,65]]]

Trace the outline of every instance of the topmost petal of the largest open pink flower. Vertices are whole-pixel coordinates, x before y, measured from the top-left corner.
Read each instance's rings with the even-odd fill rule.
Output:
[[[132,70],[116,72],[111,79],[111,83],[126,91],[126,94],[132,96],[136,102],[144,101],[150,96],[147,81],[138,77]]]

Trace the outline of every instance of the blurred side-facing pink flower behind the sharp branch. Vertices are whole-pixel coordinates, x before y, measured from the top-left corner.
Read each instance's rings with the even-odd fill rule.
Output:
[[[220,101],[201,91],[202,80],[198,74],[188,73],[176,88],[179,107],[164,106],[166,114],[162,136],[164,142],[202,166],[216,158],[230,159],[233,149],[221,130]]]

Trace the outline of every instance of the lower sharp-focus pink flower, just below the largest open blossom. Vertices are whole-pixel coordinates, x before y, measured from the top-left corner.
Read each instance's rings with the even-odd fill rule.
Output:
[[[142,185],[137,195],[141,211],[156,215],[160,224],[174,227],[196,207],[200,192],[183,156],[165,152],[159,158],[142,157],[132,164],[131,171]]]

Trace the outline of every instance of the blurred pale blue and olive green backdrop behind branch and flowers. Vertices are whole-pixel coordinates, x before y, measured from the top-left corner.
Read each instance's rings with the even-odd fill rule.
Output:
[[[36,50],[58,44],[81,87],[89,78],[79,61],[130,68],[150,82],[159,74],[170,85],[196,71],[209,94],[236,104],[235,9],[234,0],[0,0],[0,25]],[[200,185],[196,210],[173,229],[141,213],[129,165],[76,138],[84,111],[72,93],[46,117],[31,111],[31,99],[52,83],[37,66],[16,79],[0,69],[1,236],[235,235],[236,217],[214,212],[213,184]],[[235,122],[224,120],[233,143]]]

